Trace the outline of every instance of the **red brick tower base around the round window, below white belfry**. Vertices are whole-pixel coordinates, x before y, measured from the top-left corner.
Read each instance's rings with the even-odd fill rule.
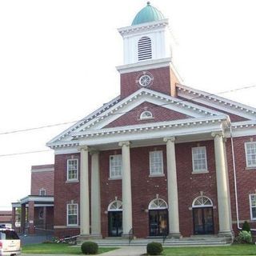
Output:
[[[149,71],[154,76],[153,84],[148,87],[150,90],[156,90],[170,95],[170,67],[145,71]],[[126,98],[136,90],[142,88],[136,82],[141,75],[142,71],[121,74],[121,98]]]

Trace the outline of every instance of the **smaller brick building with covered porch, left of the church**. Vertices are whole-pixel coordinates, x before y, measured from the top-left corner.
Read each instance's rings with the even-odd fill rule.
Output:
[[[36,230],[53,230],[54,165],[31,167],[30,195],[13,202],[12,208],[13,226],[20,223],[19,232],[34,234]]]

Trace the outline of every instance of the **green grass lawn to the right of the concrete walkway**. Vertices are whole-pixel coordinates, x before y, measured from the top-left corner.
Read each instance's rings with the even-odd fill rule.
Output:
[[[163,255],[170,256],[215,256],[215,255],[256,255],[255,245],[164,247]]]

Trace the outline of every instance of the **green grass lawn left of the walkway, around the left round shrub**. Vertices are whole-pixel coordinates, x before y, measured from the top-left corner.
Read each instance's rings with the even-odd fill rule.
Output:
[[[98,248],[98,254],[106,253],[107,251],[117,248],[107,247]],[[34,245],[22,246],[24,254],[82,254],[80,246],[69,246],[64,243],[40,243]]]

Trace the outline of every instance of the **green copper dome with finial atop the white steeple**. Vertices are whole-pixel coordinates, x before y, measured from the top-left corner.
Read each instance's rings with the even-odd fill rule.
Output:
[[[131,25],[134,26],[146,22],[157,22],[164,18],[165,17],[160,10],[158,10],[154,6],[151,6],[150,2],[147,2],[146,7],[138,12]]]

